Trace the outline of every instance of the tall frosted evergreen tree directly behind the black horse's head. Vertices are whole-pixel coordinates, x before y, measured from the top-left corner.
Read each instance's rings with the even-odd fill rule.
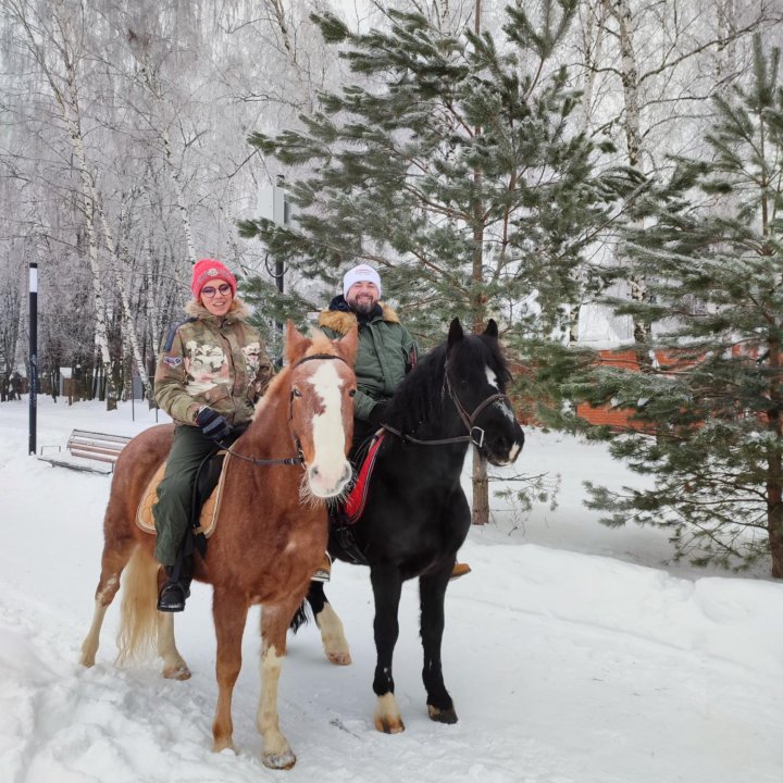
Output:
[[[387,28],[366,34],[314,17],[356,83],[321,95],[301,129],[250,137],[287,167],[297,222],[248,221],[243,234],[333,289],[349,265],[376,265],[425,348],[455,315],[474,331],[495,318],[517,357],[520,340],[568,334],[591,284],[581,253],[614,197],[554,62],[577,4],[547,0],[537,26],[507,9],[500,44],[414,12],[388,10]]]

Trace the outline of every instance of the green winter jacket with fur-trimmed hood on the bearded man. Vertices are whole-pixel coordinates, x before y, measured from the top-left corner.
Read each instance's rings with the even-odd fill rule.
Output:
[[[415,343],[397,313],[387,304],[378,304],[376,314],[359,322],[353,414],[362,421],[368,421],[375,402],[391,397],[417,360]],[[341,296],[335,297],[318,320],[319,327],[332,339],[348,334],[356,323],[356,314]]]

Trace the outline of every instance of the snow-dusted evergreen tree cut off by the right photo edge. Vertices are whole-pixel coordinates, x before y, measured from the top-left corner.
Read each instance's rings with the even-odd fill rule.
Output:
[[[695,564],[746,569],[771,555],[783,577],[783,89],[779,50],[767,57],[759,38],[754,49],[751,83],[714,99],[709,154],[673,161],[625,233],[651,296],[613,304],[657,325],[656,361],[577,374],[570,393],[641,427],[587,427],[654,480],[592,487],[606,522],[663,527]]]

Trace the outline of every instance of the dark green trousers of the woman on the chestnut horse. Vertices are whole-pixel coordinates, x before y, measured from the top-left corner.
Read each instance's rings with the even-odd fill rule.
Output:
[[[183,543],[185,554],[192,552],[192,538],[188,536],[186,540],[185,534],[190,526],[196,473],[204,457],[216,450],[215,443],[198,427],[178,424],[174,428],[174,445],[158,486],[158,501],[152,507],[158,532],[156,559],[161,566],[174,566]]]

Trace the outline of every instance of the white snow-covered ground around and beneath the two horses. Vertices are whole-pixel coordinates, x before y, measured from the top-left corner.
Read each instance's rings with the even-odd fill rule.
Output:
[[[139,403],[134,413],[41,397],[38,445],[63,445],[75,426],[134,434],[156,422]],[[444,649],[459,722],[427,718],[409,583],[395,657],[407,730],[374,730],[368,571],[340,563],[327,593],[353,664],[331,666],[312,624],[291,638],[281,725],[298,762],[273,772],[254,729],[258,610],[235,695],[236,755],[210,750],[209,587],[195,586],[176,621],[191,680],[164,681],[158,663],[115,669],[116,606],[97,666],[77,666],[110,478],[27,456],[26,399],[0,405],[0,782],[780,781],[783,584],[663,567],[660,533],[608,530],[583,508],[585,478],[633,480],[602,447],[527,435],[518,467],[559,474],[559,506],[524,517],[497,501],[461,551],[473,573],[449,587]]]

